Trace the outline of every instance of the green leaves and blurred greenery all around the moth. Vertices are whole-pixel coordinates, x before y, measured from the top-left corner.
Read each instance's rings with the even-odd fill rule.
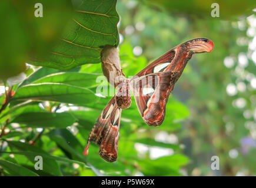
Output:
[[[1,4],[12,9],[19,1],[9,2]],[[219,18],[211,17],[214,2],[220,5]],[[15,40],[1,47],[1,176],[256,175],[255,1],[75,0],[72,5],[71,19],[54,17],[61,24],[49,40],[36,30],[38,19],[50,24],[39,28],[42,36],[55,25],[47,22],[46,12],[43,18],[34,18],[34,10],[26,13],[29,22],[13,18],[23,29],[14,29],[11,20],[4,28],[6,41],[17,36],[26,45],[17,54]],[[26,33],[24,23],[34,31],[15,35]],[[164,52],[198,37],[211,39],[214,50],[188,62],[164,123],[148,127],[132,100],[131,108],[122,111],[117,162],[105,162],[93,144],[84,157],[89,132],[110,99],[95,95],[104,80],[95,82],[102,75],[99,46],[119,43],[122,69],[133,76]],[[9,64],[5,69],[7,60],[25,68],[14,71],[18,66]],[[38,155],[44,170],[34,168]],[[219,157],[220,170],[211,169],[212,156]]]

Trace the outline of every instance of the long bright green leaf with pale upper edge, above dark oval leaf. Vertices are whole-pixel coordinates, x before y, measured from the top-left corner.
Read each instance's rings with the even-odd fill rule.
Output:
[[[50,100],[85,105],[97,101],[97,96],[87,89],[64,83],[36,83],[19,88],[12,100]]]

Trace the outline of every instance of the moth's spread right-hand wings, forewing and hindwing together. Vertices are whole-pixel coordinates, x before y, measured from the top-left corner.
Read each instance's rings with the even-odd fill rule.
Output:
[[[206,38],[181,43],[131,79],[139,113],[149,126],[159,126],[164,121],[169,94],[192,55],[211,52],[213,47],[214,43]]]

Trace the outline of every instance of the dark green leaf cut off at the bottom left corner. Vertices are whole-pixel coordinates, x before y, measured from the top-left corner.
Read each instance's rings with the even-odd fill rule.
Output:
[[[35,172],[7,160],[0,160],[0,166],[8,171],[12,176],[38,176]]]

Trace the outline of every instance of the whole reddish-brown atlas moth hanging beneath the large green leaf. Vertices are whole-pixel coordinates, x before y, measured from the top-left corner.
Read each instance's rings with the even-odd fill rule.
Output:
[[[181,76],[189,59],[194,53],[211,52],[214,43],[207,38],[196,38],[172,48],[158,59],[149,63],[131,79],[122,73],[117,48],[106,45],[101,52],[102,71],[109,83],[117,89],[115,96],[108,102],[91,130],[84,155],[88,155],[90,142],[99,146],[99,155],[107,162],[114,162],[118,155],[119,125],[122,109],[131,105],[134,94],[139,113],[149,126],[159,126],[164,122],[165,107],[174,85]],[[114,71],[114,78],[109,78]]]

